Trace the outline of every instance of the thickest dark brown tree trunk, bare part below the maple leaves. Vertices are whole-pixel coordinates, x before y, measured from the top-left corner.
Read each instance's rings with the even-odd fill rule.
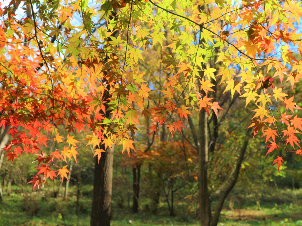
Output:
[[[105,149],[102,144],[100,149]],[[112,145],[112,150],[114,146]],[[113,151],[110,148],[102,154],[100,163],[95,158],[93,180],[93,199],[91,211],[91,226],[109,226],[111,220],[111,196],[113,176]]]

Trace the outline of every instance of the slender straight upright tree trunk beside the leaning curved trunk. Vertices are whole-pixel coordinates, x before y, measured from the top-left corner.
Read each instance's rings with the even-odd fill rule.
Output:
[[[198,168],[198,193],[201,226],[209,226],[211,222],[211,203],[207,187],[207,161],[208,161],[208,131],[207,112],[199,112],[199,168]]]

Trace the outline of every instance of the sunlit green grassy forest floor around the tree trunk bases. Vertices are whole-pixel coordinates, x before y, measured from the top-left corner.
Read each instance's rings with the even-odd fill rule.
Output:
[[[36,198],[12,193],[0,202],[0,226],[88,226],[91,199],[82,197],[79,215],[75,212],[76,197],[63,199]],[[112,226],[197,226],[197,219],[186,216],[184,208],[177,206],[176,216],[169,217],[165,203],[158,215],[140,210],[133,214],[128,207],[120,209],[113,204]],[[265,203],[257,210],[255,205],[245,204],[241,209],[224,208],[218,226],[302,226],[301,206]]]

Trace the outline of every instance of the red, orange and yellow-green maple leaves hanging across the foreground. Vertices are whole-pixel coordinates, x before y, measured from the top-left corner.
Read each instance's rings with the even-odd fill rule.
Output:
[[[135,149],[140,118],[152,121],[151,134],[165,123],[173,135],[185,129],[194,106],[218,117],[223,109],[211,97],[217,78],[224,92],[232,98],[237,92],[253,106],[249,127],[265,137],[268,154],[302,155],[296,137],[301,108],[283,92],[302,77],[300,2],[153,1],[0,3],[0,126],[11,135],[8,161],[37,156],[33,189],[53,177],[68,179],[66,166],[56,162],[76,161],[82,141],[74,133],[90,131],[84,140],[100,159],[114,144],[123,152]],[[161,104],[138,64],[155,45],[169,75]],[[46,134],[64,149],[43,152]],[[282,156],[273,162],[278,168]]]

